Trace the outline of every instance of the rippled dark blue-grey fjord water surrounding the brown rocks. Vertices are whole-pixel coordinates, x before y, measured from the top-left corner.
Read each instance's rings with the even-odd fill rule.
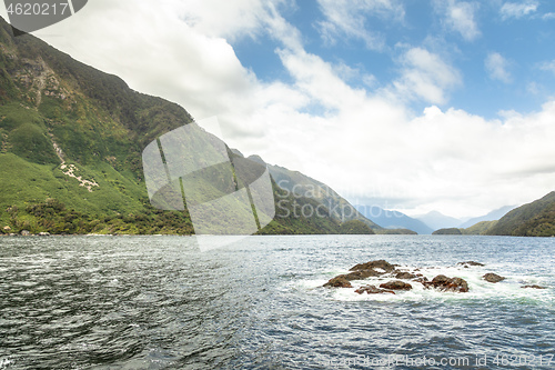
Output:
[[[251,237],[205,252],[190,237],[1,238],[0,369],[554,368],[554,238]],[[376,259],[471,291],[321,288]],[[486,267],[455,267],[468,260]]]

